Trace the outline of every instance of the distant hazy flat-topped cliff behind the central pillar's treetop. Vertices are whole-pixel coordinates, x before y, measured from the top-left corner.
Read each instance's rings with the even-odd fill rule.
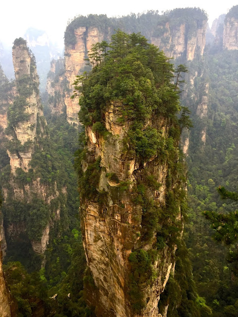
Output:
[[[47,84],[52,113],[62,113],[65,106],[68,122],[78,124],[78,98],[70,98],[73,95],[75,77],[90,69],[86,59],[91,53],[92,45],[103,40],[110,42],[115,29],[120,28],[128,33],[141,32],[168,57],[182,56],[186,61],[203,55],[207,16],[202,10],[186,8],[175,9],[164,15],[147,14],[148,19],[143,19],[143,15],[138,15],[136,19],[131,17],[131,24],[127,24],[123,18],[112,19],[106,15],[90,15],[88,18],[79,16],[69,23],[64,35],[64,72],[61,72],[60,77],[56,76],[51,87],[49,81],[54,78],[52,75],[55,68],[57,72],[56,62],[53,62]]]

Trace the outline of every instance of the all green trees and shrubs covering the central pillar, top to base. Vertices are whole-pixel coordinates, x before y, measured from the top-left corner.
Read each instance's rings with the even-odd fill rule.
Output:
[[[176,74],[164,53],[148,44],[141,34],[128,35],[118,30],[112,37],[107,55],[98,63],[99,45],[93,50],[95,67],[75,81],[75,94],[80,95],[79,120],[86,128],[92,129],[96,137],[102,136],[109,142],[112,135],[105,125],[105,112],[112,101],[119,102],[121,115],[117,122],[122,128],[128,126],[122,140],[123,154],[135,158],[140,166],[140,176],[135,177],[133,189],[129,188],[130,181],[119,179],[114,170],[106,176],[111,180],[114,177],[118,184],[115,191],[119,195],[128,191],[133,196],[133,204],[142,210],[141,231],[137,232],[140,238],[138,247],[132,248],[128,259],[131,269],[127,281],[130,306],[139,313],[147,305],[142,288],[145,284],[152,285],[157,278],[153,269],[155,259],[165,248],[174,252],[172,250],[180,239],[181,218],[176,215],[185,212],[185,192],[182,189],[185,170],[179,159],[178,146],[181,127],[188,126],[188,110],[183,110],[179,121],[179,83],[182,82],[180,74],[186,68],[181,66]],[[168,128],[168,133],[163,134],[161,122],[165,129]],[[105,166],[99,157],[87,161],[86,170],[82,170],[82,163],[88,155],[86,146],[76,159],[81,206],[89,200],[104,206],[108,194],[99,191],[98,183]],[[168,164],[164,207],[154,199],[161,184],[146,168],[152,161]],[[143,249],[145,244],[151,245],[149,250]]]

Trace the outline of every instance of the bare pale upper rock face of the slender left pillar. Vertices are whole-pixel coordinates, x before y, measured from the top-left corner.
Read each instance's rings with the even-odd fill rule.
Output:
[[[43,117],[43,108],[39,96],[39,77],[34,57],[27,49],[24,40],[19,39],[14,42],[12,57],[18,90],[17,101],[20,102],[20,98],[25,97],[24,101],[22,100],[25,103],[25,111],[23,109],[22,111],[27,115],[27,120],[19,120],[12,127],[16,139],[20,141],[21,145],[25,142],[32,144],[36,137],[37,118]],[[12,113],[12,116],[14,116],[14,113]],[[31,146],[28,151],[24,152],[11,153],[8,151],[12,171],[14,172],[19,167],[28,171],[31,155]]]

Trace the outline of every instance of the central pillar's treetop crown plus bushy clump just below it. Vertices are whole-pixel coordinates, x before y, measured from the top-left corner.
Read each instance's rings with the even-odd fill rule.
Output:
[[[89,57],[94,68],[89,74],[77,76],[74,83],[74,96],[81,96],[80,122],[105,136],[104,111],[112,100],[119,101],[122,104],[119,123],[130,125],[124,140],[125,151],[134,151],[142,161],[157,155],[163,157],[171,142],[168,143],[162,131],[153,128],[151,123],[147,125],[148,120],[166,117],[177,131],[173,139],[178,142],[179,84],[183,82],[181,72],[186,68],[175,70],[164,53],[148,44],[144,36],[128,35],[120,30],[112,36],[110,45],[105,41],[96,43]],[[189,120],[182,123],[182,128],[191,126]]]

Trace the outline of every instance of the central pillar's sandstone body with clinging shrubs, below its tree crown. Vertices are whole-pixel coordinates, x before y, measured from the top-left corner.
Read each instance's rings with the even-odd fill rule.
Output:
[[[126,38],[121,33],[120,36]],[[128,45],[131,45],[134,55],[131,54],[135,56],[138,47],[134,42],[136,36],[135,39],[133,36],[133,42],[129,42],[130,36],[127,40],[132,43]],[[117,43],[117,38],[114,40]],[[139,37],[138,45],[141,45],[140,41]],[[147,48],[154,50],[153,46]],[[141,48],[143,50],[144,47]],[[117,61],[115,54],[112,60],[106,60],[102,68],[99,68],[103,69],[102,72],[104,67],[113,72],[106,87],[111,87],[110,84],[118,87],[122,80],[119,78],[117,81],[117,63],[110,68],[113,60]],[[166,57],[156,54],[167,67]],[[124,64],[119,62],[118,67],[127,69],[126,61],[130,57],[128,53],[128,57],[122,59],[125,60]],[[147,64],[143,62],[146,68]],[[88,82],[83,83],[82,88],[83,104],[79,117],[81,115],[81,122],[86,125],[86,146],[80,163],[82,170],[79,172],[79,189],[82,235],[88,265],[84,281],[87,303],[95,307],[97,317],[158,316],[158,302],[170,273],[174,272],[176,241],[180,239],[182,231],[179,197],[184,199],[184,191],[183,180],[177,170],[177,164],[182,167],[182,162],[179,159],[179,138],[170,135],[171,129],[179,133],[178,121],[152,110],[156,108],[156,102],[148,110],[146,103],[151,95],[147,96],[144,90],[141,97],[144,100],[143,106],[137,99],[141,107],[132,102],[135,98],[134,89],[137,92],[141,89],[136,84],[141,79],[137,78],[137,74],[142,76],[145,71],[140,62],[135,61],[133,65],[137,65],[137,72],[132,72],[130,68],[128,72],[131,72],[131,77],[134,76],[134,81],[129,78],[135,87],[131,91],[128,84],[127,93],[120,92],[121,95],[130,96],[128,100],[131,102],[128,105],[116,100],[107,101],[100,112],[100,122],[87,123],[89,118],[96,115],[96,111],[92,111],[105,102],[102,96],[99,101],[95,100],[95,105],[90,99],[99,85],[87,86],[91,83],[90,79],[94,78],[94,73],[92,77],[89,76]],[[121,75],[125,81],[127,75],[127,72]],[[100,82],[100,76],[95,76]],[[149,83],[154,85],[150,79]],[[105,81],[101,87],[105,92],[107,88],[103,85]],[[158,91],[160,85],[158,82]],[[91,93],[88,95],[88,92]],[[113,93],[108,91],[106,99],[110,92]],[[160,92],[164,100],[164,93]],[[174,90],[170,92],[175,94]],[[84,102],[88,106],[84,106]],[[162,102],[160,110],[165,109],[166,105],[166,101]],[[149,111],[150,115],[141,116],[142,109],[147,109],[145,111]],[[174,110],[170,108],[168,111]],[[155,152],[151,142],[157,144]],[[166,144],[170,144],[170,155]],[[176,228],[175,231],[171,230],[172,227]]]

